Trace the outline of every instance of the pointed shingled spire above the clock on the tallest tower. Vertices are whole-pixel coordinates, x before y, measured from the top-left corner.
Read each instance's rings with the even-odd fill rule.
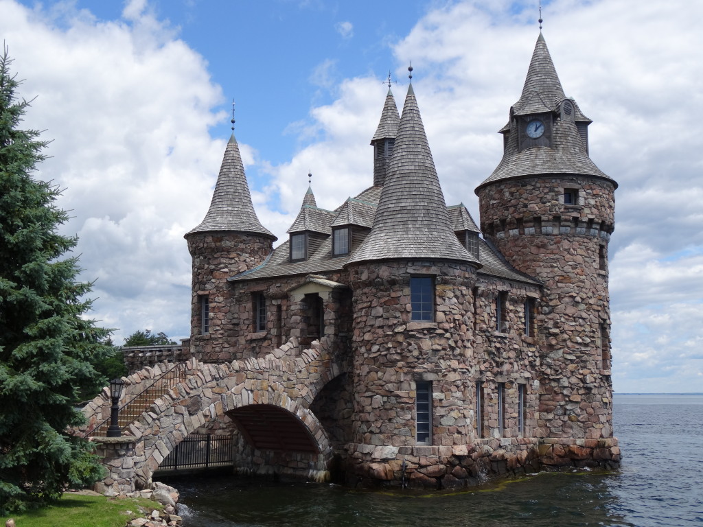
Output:
[[[532,53],[532,60],[529,63],[520,99],[512,105],[514,114],[522,115],[526,110],[531,113],[532,111],[526,107],[531,100],[534,100],[536,93],[550,110],[556,108],[556,105],[566,98],[542,32],[539,32],[534,46],[534,53]]]

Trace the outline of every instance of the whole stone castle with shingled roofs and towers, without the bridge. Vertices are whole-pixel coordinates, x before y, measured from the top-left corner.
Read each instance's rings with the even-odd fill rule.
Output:
[[[588,155],[590,123],[540,34],[500,130],[503,159],[475,189],[477,226],[446,204],[412,84],[401,115],[389,89],[370,186],[333,211],[308,188],[276,248],[232,135],[212,204],[185,236],[183,353],[335,357],[342,373],[308,403],[347,476],[459,486],[486,471],[617,466],[607,271],[617,183]],[[205,428],[236,430],[254,463],[307,466],[317,438],[286,447],[295,416],[252,402]],[[266,443],[274,436],[279,447]]]

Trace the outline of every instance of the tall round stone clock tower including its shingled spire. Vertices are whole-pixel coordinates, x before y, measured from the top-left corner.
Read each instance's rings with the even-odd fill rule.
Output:
[[[588,124],[567,98],[540,33],[503,160],[476,188],[481,228],[543,282],[538,437],[612,437],[607,245],[617,183],[588,157]]]

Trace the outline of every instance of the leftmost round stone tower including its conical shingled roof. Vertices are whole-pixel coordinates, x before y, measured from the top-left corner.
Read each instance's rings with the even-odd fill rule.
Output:
[[[226,337],[238,323],[238,312],[228,308],[227,278],[262,263],[276,241],[254,212],[234,132],[205,219],[184,238],[193,257],[191,353],[204,360],[231,360]]]

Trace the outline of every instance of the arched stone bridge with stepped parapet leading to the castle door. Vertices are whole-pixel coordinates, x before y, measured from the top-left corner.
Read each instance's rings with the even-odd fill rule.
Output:
[[[112,494],[150,488],[153,472],[176,445],[223,417],[236,424],[254,452],[288,453],[288,464],[297,469],[325,471],[333,445],[311,405],[330,381],[347,372],[347,364],[330,348],[327,339],[304,350],[291,339],[261,358],[222,364],[186,361],[185,375],[145,406],[127,434],[91,436],[109,471],[96,490]],[[173,366],[159,363],[126,377],[121,405]],[[108,389],[83,411],[85,434],[109,417]]]

